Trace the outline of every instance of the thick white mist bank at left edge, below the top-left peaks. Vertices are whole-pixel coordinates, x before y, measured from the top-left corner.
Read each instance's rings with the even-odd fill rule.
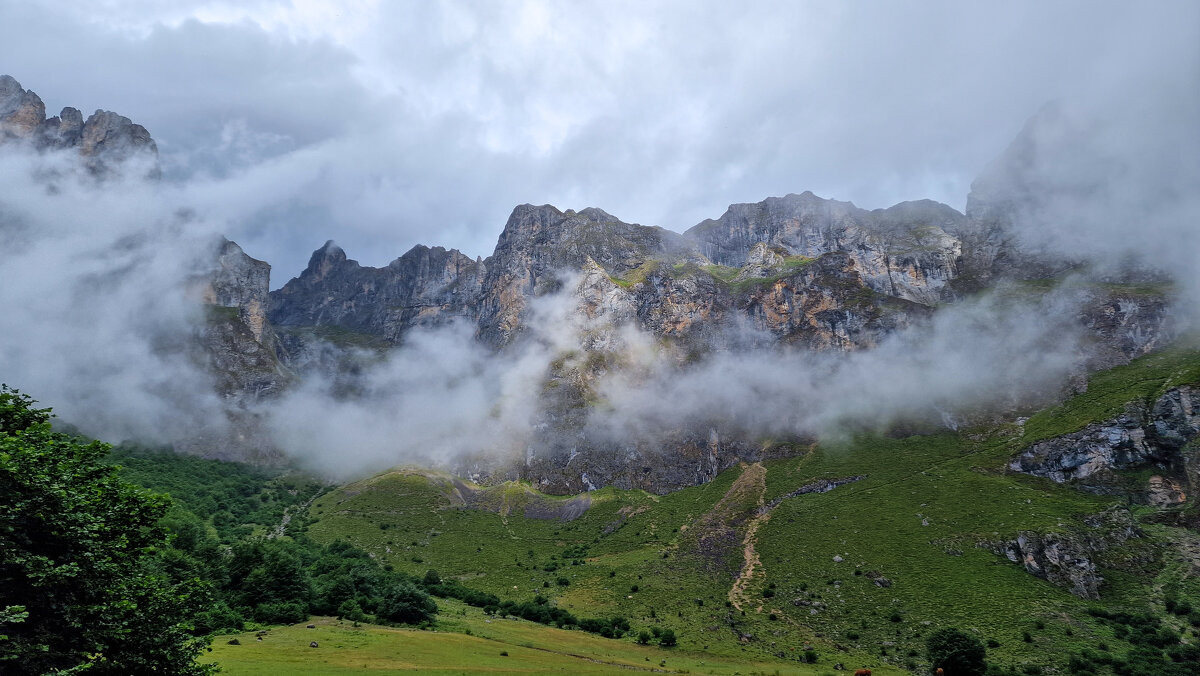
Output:
[[[214,379],[190,359],[216,234],[143,167],[98,184],[74,154],[0,146],[0,379],[84,433],[170,443],[220,432]]]

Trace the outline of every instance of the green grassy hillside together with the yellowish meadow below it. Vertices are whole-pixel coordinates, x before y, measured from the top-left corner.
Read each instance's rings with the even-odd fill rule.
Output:
[[[1061,670],[1082,650],[1128,650],[1088,614],[1096,605],[1157,614],[1198,642],[1196,629],[1163,606],[1168,593],[1200,605],[1200,538],[1152,508],[1132,507],[1144,537],[1100,561],[1100,602],[980,546],[1020,532],[1080,533],[1085,516],[1126,504],[1007,463],[1034,441],[1184,383],[1200,383],[1200,353],[1165,351],[1096,375],[1086,393],[1024,424],[820,444],[666,496],[612,487],[545,496],[397,468],[318,497],[310,537],[348,540],[402,572],[434,569],[503,599],[544,596],[581,618],[626,617],[632,632],[604,639],[438,599],[430,630],[316,618],[314,629],[277,627],[263,641],[218,638],[211,657],[234,675],[833,675],[839,664],[899,674],[926,669],[925,638],[954,627],[985,641],[990,663],[1033,674]],[[1127,478],[1145,483],[1148,472]],[[794,495],[822,480],[845,483]],[[667,628],[679,636],[674,648],[636,642],[642,630]]]

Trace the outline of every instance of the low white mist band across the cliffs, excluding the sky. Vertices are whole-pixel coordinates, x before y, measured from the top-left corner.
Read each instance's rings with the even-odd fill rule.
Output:
[[[578,275],[564,270],[560,291],[530,300],[521,340],[505,349],[479,343],[470,325],[414,329],[400,348],[360,355],[370,366],[352,395],[307,373],[250,405],[215,394],[190,342],[204,322],[192,289],[211,270],[222,222],[185,207],[220,183],[162,185],[131,171],[101,184],[72,156],[6,146],[0,373],[109,441],[194,448],[197,437],[220,438],[232,411],[248,411],[271,445],[338,479],[398,463],[517,461],[547,424],[551,363],[577,365],[595,351],[622,366],[590,378],[596,400],[580,435],[616,447],[653,448],[667,431],[715,426],[827,439],[896,424],[956,427],[1078,384],[1087,275],[1136,259],[1177,282],[1172,312],[1192,319],[1200,307],[1196,193],[1184,190],[1200,174],[1192,158],[1154,162],[1154,134],[1130,140],[1122,121],[1039,115],[1034,148],[1010,149],[985,173],[1022,195],[1027,186],[1004,183],[1019,155],[1022,180],[1040,187],[1016,209],[1013,234],[1088,263],[1080,283],[1045,295],[1002,285],[851,353],[805,352],[740,327],[724,341],[738,348],[683,364],[631,317],[589,317]]]

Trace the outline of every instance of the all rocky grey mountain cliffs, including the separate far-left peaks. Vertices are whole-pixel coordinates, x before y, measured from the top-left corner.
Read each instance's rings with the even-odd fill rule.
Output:
[[[98,179],[142,162],[157,173],[156,144],[140,125],[103,110],[85,121],[73,108],[47,119],[37,95],[7,76],[0,140],[74,154]],[[281,457],[284,449],[264,429],[272,402],[322,381],[331,383],[334,401],[368,396],[372,373],[392,351],[418,333],[458,327],[498,363],[536,358],[523,366],[535,383],[526,417],[509,436],[450,460],[452,468],[557,493],[605,485],[668,492],[739,462],[794,454],[815,432],[780,436],[707,411],[617,433],[604,420],[614,377],[635,385],[652,376],[679,379],[756,351],[869,353],[893,336],[930,335],[947,312],[983,297],[1004,304],[1066,289],[1084,336],[1082,366],[1046,391],[971,413],[1010,417],[1178,333],[1162,275],[1091,270],[1028,241],[1027,225],[1049,205],[1096,195],[1086,173],[1054,171],[1056,157],[1084,155],[1082,143],[1057,108],[1039,112],[974,181],[965,214],[931,201],[866,210],[803,192],[733,204],[676,233],[598,208],[524,204],[486,258],[418,245],[370,268],[330,240],[274,292],[266,262],[215,241],[190,285],[208,311],[187,358],[211,376],[232,425],[179,445]],[[1067,181],[1063,173],[1085,179]],[[888,423],[901,433],[943,421]]]

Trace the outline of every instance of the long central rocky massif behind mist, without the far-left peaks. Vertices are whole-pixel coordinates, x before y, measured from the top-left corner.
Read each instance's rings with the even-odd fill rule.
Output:
[[[416,246],[386,267],[366,268],[326,243],[300,276],[271,292],[268,318],[287,336],[284,365],[302,373],[320,364],[329,375],[344,364],[328,354],[323,335],[331,330],[343,343],[356,336],[354,345],[385,352],[414,330],[466,324],[480,343],[511,355],[545,321],[538,300],[564,297],[582,352],[563,348],[547,359],[529,433],[510,439],[500,460],[481,449],[452,467],[476,480],[520,478],[557,493],[604,485],[677,490],[742,461],[794,453],[810,439],[764,443],[760,430],[720,417],[613,439],[592,423],[604,408],[598,387],[628,361],[622,327],[656,340],[659,361],[678,364],[684,375],[688,364],[746,349],[748,340],[760,348],[869,351],[898,331],[929,330],[940,312],[980,294],[1037,298],[1066,283],[1087,345],[1076,385],[1087,371],[1168,345],[1176,335],[1168,283],[1090,276],[1080,262],[1021,247],[1014,205],[1037,185],[1022,167],[1037,145],[1028,137],[1044,124],[1031,121],[976,181],[967,214],[930,201],[864,210],[805,192],[733,204],[679,234],[595,208],[526,204],[482,259]],[[1069,387],[1026,393],[1022,406]]]

